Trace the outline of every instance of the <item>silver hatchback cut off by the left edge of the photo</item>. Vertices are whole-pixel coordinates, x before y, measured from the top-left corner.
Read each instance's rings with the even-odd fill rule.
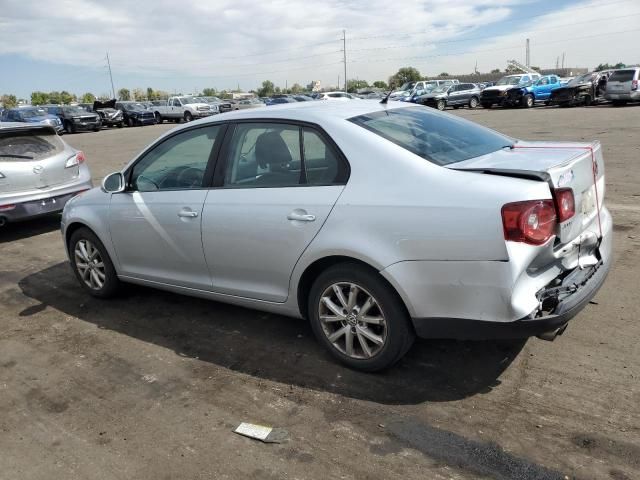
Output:
[[[0,123],[0,227],[60,212],[92,186],[84,153],[53,126]]]

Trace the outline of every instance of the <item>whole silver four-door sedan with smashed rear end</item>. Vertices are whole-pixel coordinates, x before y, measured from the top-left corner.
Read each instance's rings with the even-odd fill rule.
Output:
[[[305,318],[373,371],[416,335],[562,333],[611,264],[604,181],[597,142],[302,102],[170,131],[69,202],[62,227],[91,295],[130,282]]]

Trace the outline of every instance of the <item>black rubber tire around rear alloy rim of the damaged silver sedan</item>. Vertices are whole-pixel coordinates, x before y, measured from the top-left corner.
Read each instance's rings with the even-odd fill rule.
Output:
[[[379,306],[379,313],[385,319],[386,339],[382,346],[378,347],[379,350],[369,358],[354,358],[343,353],[338,347],[334,346],[327,337],[328,334],[325,333],[320,320],[320,302],[322,301],[323,293],[336,283],[357,284],[361,288],[361,293],[370,294],[375,298]],[[334,358],[350,368],[366,372],[382,370],[396,363],[411,348],[415,339],[409,314],[398,294],[377,272],[358,264],[341,263],[334,265],[318,276],[309,292],[308,317],[314,335]],[[329,325],[333,325],[333,323]],[[358,322],[358,325],[364,324]],[[348,325],[346,323],[336,324],[335,328],[348,328]],[[352,326],[351,331],[356,328],[358,327]],[[364,353],[362,344],[358,342],[357,337],[355,337],[354,348],[360,349]],[[357,345],[355,345],[356,343]]]

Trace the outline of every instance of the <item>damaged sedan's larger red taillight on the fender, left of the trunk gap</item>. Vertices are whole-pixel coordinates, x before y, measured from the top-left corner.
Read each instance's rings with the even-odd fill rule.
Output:
[[[507,203],[502,207],[504,239],[542,245],[553,236],[556,218],[552,200]]]

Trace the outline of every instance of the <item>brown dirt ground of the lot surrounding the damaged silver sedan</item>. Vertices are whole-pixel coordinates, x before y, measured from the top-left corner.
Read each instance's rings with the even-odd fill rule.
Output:
[[[640,106],[456,111],[600,139],[615,265],[555,342],[419,341],[382,374],[304,323],[131,287],[88,298],[58,218],[0,231],[0,479],[640,478]],[[169,125],[64,137],[95,176]],[[289,433],[262,444],[241,421]]]

